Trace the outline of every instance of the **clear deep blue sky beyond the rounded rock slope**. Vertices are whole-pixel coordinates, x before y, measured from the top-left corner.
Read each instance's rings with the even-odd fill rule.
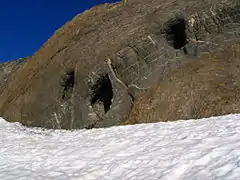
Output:
[[[0,0],[0,62],[32,55],[75,15],[119,0]]]

